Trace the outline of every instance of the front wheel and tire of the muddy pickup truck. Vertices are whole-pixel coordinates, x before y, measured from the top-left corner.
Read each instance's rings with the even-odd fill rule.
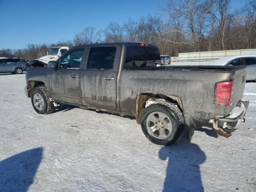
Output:
[[[31,94],[31,102],[34,110],[39,114],[50,114],[54,111],[54,105],[44,87],[34,88]]]

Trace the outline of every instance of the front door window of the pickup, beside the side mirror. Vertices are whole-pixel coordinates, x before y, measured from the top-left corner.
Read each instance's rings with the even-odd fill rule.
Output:
[[[60,69],[80,69],[84,48],[75,49],[60,59]]]

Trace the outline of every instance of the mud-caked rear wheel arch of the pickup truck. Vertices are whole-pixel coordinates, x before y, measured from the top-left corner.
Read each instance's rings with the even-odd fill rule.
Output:
[[[158,101],[170,102],[176,104],[176,106],[183,113],[182,100],[178,96],[159,93],[139,93],[136,98],[136,121],[138,124],[140,124],[140,117],[144,108],[146,108],[147,101],[152,103]]]

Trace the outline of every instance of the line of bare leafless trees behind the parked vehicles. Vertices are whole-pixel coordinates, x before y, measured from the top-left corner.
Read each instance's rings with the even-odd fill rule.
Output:
[[[0,50],[0,56],[25,59],[46,55],[51,46],[100,42],[147,42],[161,54],[256,48],[256,1],[231,10],[230,0],[168,0],[160,16],[144,16],[123,23],[110,22],[105,29],[87,26],[73,40],[55,44],[28,44],[24,49]]]

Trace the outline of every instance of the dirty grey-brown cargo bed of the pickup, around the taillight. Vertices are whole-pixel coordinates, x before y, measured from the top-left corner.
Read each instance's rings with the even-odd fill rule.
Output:
[[[170,94],[182,100],[183,110],[190,112],[198,126],[200,122],[210,126],[208,121],[214,116],[228,116],[237,106],[243,96],[245,77],[243,66],[161,66],[123,70],[120,106],[123,112],[133,114],[136,94]],[[214,103],[216,83],[228,80],[234,80],[232,103],[218,106]],[[132,99],[127,100],[127,97]]]

